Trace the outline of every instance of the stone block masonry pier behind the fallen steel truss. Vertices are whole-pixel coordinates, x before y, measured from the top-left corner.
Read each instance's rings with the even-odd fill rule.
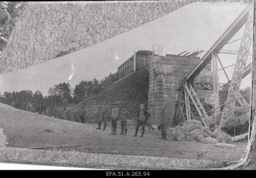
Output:
[[[148,111],[150,112],[151,124],[159,124],[159,116],[166,105],[168,115],[171,118],[175,102],[177,100],[177,89],[189,71],[193,70],[200,61],[199,57],[188,56],[150,56],[149,60],[149,84],[148,84]],[[200,77],[201,76],[201,77]],[[211,64],[201,71],[195,82],[213,82]],[[213,105],[213,91],[196,91],[200,100]]]

